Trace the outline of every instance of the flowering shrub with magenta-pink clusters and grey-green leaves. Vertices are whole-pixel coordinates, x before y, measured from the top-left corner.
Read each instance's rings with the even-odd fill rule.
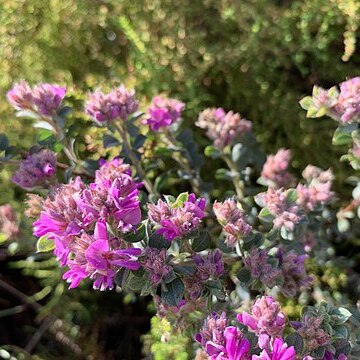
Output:
[[[346,159],[355,169],[359,89],[354,78],[340,91],[316,88],[301,102],[309,116],[339,122],[334,143],[352,143]],[[118,157],[80,159],[65,95],[62,87],[22,81],[8,99],[52,139],[29,149],[12,180],[33,192],[27,215],[35,218],[37,251],[53,251],[70,289],[90,282],[94,290],[153,296],[170,333],[196,340],[189,353],[196,350],[198,359],[356,358],[354,299],[333,296],[316,269],[338,259],[332,240],[351,229],[360,179],[351,210],[339,210],[330,169],[309,165],[297,180],[290,150],[264,163],[252,123],[211,108],[195,124],[212,142],[206,157],[227,166],[212,168],[214,179],[228,182],[221,193],[204,180],[204,157],[183,129],[185,104],[157,96],[142,113],[124,85],[90,93],[85,103],[89,126],[105,132],[104,147]],[[17,162],[20,149],[9,151],[1,139],[3,161]],[[169,195],[173,188],[187,191]],[[11,237],[16,220],[5,210],[2,232]],[[288,301],[302,307],[301,319],[286,313]]]

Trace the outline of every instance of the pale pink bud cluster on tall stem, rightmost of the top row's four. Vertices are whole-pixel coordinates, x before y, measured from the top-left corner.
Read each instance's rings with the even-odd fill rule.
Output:
[[[240,114],[222,108],[210,108],[200,113],[196,125],[206,130],[206,135],[214,146],[223,149],[252,128],[251,121],[241,118]]]

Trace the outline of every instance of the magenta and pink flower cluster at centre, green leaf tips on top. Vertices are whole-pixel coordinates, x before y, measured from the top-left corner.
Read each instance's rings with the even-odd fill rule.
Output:
[[[172,241],[196,230],[205,217],[205,199],[197,199],[190,194],[187,201],[176,206],[168,201],[159,200],[156,205],[148,205],[149,219],[156,225],[156,233]]]

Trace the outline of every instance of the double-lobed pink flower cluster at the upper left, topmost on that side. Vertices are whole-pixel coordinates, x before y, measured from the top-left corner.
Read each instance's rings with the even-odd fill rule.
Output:
[[[53,116],[60,108],[66,88],[40,83],[34,88],[22,80],[7,93],[10,104],[17,110],[33,110],[42,116]]]

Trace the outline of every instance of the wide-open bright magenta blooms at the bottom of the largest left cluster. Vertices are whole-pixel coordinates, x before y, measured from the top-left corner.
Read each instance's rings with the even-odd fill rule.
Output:
[[[73,259],[67,261],[70,270],[63,278],[70,282],[70,288],[75,288],[86,277],[94,280],[93,288],[113,289],[114,276],[120,268],[139,270],[137,257],[141,250],[137,248],[112,248],[107,235],[106,224],[98,222],[95,225],[94,236],[83,234],[74,238],[70,244]]]

